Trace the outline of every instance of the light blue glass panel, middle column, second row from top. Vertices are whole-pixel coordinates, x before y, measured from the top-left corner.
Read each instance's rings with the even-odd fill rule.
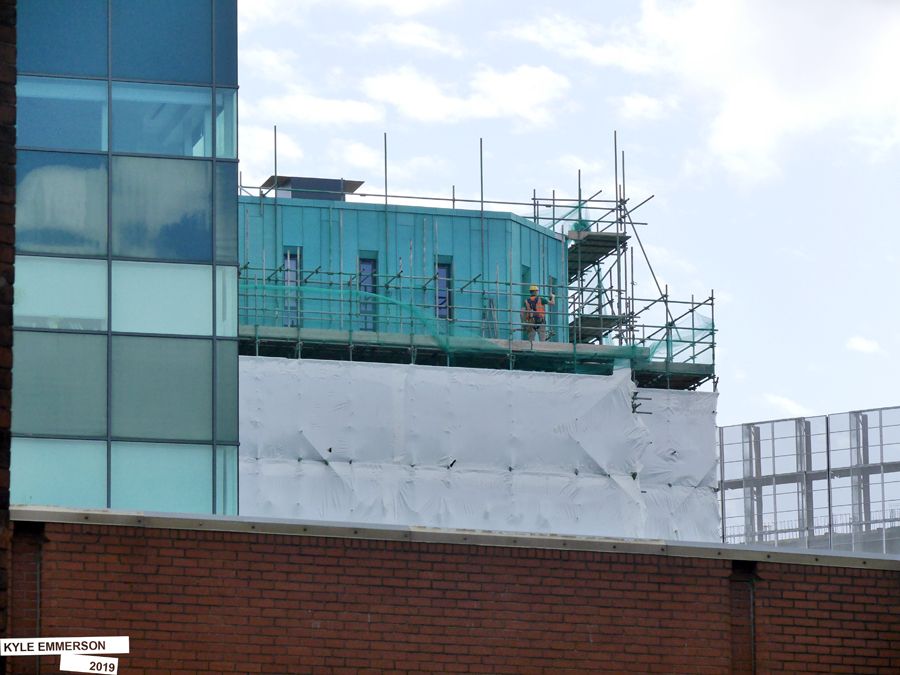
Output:
[[[112,114],[113,152],[212,155],[208,87],[113,82]]]

